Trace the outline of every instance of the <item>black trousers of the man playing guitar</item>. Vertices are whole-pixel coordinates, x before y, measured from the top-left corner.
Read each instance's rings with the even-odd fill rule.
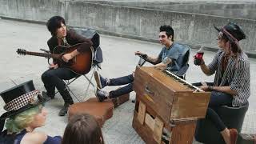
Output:
[[[72,70],[60,67],[57,69],[46,70],[41,78],[47,90],[47,94],[54,95],[56,87],[58,92],[62,95],[64,102],[73,104],[73,99],[68,90],[66,90],[66,84],[62,80],[69,80],[77,76],[78,74],[75,74]]]

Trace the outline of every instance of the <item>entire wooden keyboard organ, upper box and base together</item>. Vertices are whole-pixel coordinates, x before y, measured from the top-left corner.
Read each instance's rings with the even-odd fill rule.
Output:
[[[146,143],[192,144],[198,118],[205,118],[210,92],[153,67],[137,67],[134,130]]]

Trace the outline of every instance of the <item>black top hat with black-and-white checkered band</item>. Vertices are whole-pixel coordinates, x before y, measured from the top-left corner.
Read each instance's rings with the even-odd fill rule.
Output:
[[[20,114],[25,110],[50,100],[50,98],[43,97],[38,90],[35,90],[32,80],[5,90],[0,95],[4,102],[6,102],[6,106],[4,106],[6,113],[0,117],[1,124],[4,124],[6,118]]]

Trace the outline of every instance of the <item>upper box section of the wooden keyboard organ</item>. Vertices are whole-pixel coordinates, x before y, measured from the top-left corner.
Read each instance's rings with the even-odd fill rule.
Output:
[[[134,91],[166,122],[205,118],[210,101],[210,92],[194,91],[153,67],[137,67]]]

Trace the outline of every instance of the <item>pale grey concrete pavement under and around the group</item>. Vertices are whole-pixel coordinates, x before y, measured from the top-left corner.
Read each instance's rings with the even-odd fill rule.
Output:
[[[34,86],[38,90],[44,90],[41,74],[47,69],[46,58],[21,56],[16,54],[18,48],[30,51],[39,51],[39,49],[47,49],[46,41],[50,38],[50,32],[46,30],[46,26],[28,22],[16,22],[0,19],[0,91],[6,90],[15,84],[33,79]],[[158,30],[156,30],[158,31]],[[213,39],[214,41],[214,39]],[[162,49],[157,43],[142,42],[128,38],[110,37],[101,35],[101,47],[103,51],[104,62],[102,70],[99,72],[108,78],[115,78],[130,74],[137,62],[138,58],[134,56],[134,51],[140,50],[149,55],[157,55]],[[214,77],[207,77],[202,74],[197,66],[192,63],[192,55],[196,50],[191,51],[190,69],[186,74],[188,82],[198,82],[205,80],[213,81]],[[206,51],[205,61],[210,62],[214,53]],[[256,98],[255,98],[255,71],[256,60],[250,58],[251,71],[251,96],[249,98],[250,107],[246,113],[245,122],[242,127],[242,133],[256,134]],[[88,76],[90,76],[88,74]],[[70,87],[78,99],[87,99],[94,97],[94,90],[90,86],[89,94],[85,96],[86,85],[85,79],[79,78]],[[117,87],[106,87],[106,90],[113,90]],[[131,94],[134,98],[134,93]],[[0,98],[1,99],[1,98]],[[74,98],[77,102],[77,99]],[[67,118],[59,117],[58,110],[63,105],[60,95],[46,104],[48,110],[48,119],[46,126],[37,130],[44,131],[50,135],[62,135],[66,126]],[[4,112],[2,107],[4,102],[0,100],[0,114]],[[114,110],[113,118],[106,121],[102,128],[106,143],[144,143],[131,126],[133,117],[134,103],[126,102]],[[197,143],[197,142],[194,142]]]

